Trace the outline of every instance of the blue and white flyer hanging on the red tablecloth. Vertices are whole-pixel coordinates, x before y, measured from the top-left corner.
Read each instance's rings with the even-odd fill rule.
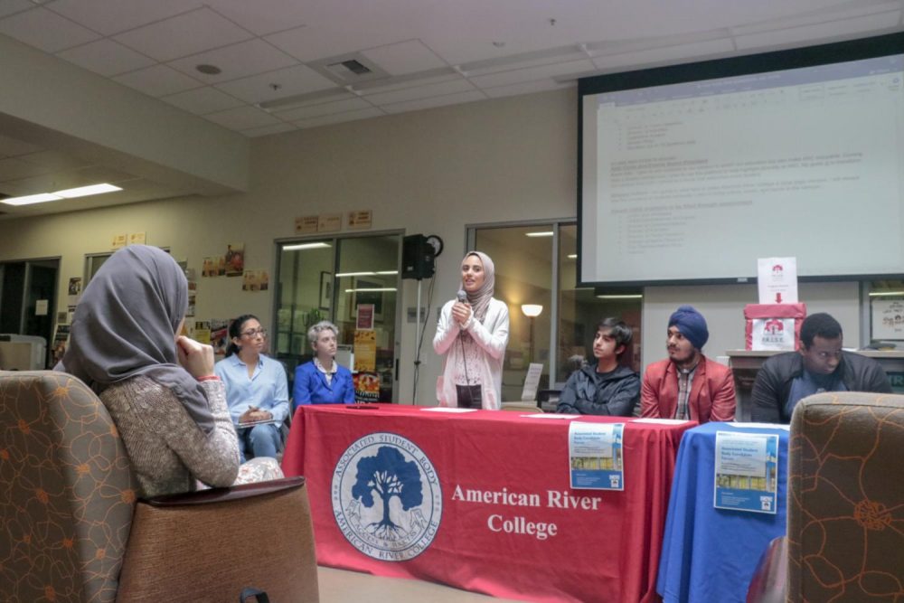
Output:
[[[570,485],[589,490],[624,490],[624,423],[571,421],[568,431]]]

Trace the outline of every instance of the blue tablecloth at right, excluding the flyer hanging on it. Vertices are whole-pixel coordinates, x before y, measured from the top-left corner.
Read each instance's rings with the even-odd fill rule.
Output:
[[[777,513],[713,508],[716,432],[778,435]],[[786,532],[788,431],[707,423],[684,432],[656,591],[665,603],[743,603],[768,543]]]

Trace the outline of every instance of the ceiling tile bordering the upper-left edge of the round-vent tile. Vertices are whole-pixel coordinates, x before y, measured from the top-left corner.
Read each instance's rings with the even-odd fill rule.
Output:
[[[157,61],[172,61],[250,37],[251,33],[209,8],[199,8],[115,36],[118,42]]]

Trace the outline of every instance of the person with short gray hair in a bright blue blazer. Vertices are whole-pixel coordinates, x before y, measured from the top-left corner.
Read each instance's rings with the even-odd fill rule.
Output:
[[[352,372],[335,362],[339,329],[322,320],[307,332],[314,348],[314,360],[299,364],[292,389],[293,408],[299,404],[353,404]]]

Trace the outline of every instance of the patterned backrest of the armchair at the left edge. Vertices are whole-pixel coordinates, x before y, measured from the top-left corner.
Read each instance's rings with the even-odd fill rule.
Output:
[[[133,479],[112,419],[84,383],[0,371],[0,598],[115,600]]]

